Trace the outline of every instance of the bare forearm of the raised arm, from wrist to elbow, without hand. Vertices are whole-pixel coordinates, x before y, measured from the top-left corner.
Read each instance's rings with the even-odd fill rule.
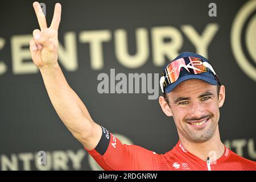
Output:
[[[49,98],[61,121],[72,134],[86,135],[86,132],[92,128],[92,118],[79,96],[68,85],[59,64],[55,64],[54,67],[42,67],[40,72]]]

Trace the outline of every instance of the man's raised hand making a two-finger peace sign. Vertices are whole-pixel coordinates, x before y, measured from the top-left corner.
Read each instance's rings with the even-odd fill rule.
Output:
[[[43,14],[38,2],[33,3],[40,30],[33,31],[33,38],[30,40],[30,52],[34,64],[37,67],[55,65],[58,57],[58,28],[60,24],[61,5],[56,3],[52,23],[47,27],[46,17]]]

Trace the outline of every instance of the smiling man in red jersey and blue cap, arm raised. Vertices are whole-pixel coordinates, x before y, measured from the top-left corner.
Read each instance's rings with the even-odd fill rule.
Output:
[[[106,170],[256,170],[256,163],[234,154],[220,139],[219,107],[225,87],[205,57],[181,53],[164,67],[159,97],[163,112],[174,117],[179,142],[163,155],[122,144],[90,117],[71,89],[57,62],[57,30],[61,5],[56,3],[52,23],[38,2],[33,3],[40,30],[34,30],[30,51],[42,74],[49,98],[61,121],[89,154]]]

